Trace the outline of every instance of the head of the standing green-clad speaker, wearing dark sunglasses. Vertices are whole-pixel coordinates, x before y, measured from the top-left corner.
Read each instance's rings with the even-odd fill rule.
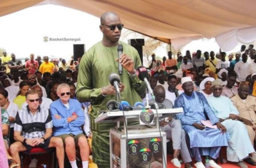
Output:
[[[106,40],[110,42],[118,42],[121,36],[121,30],[119,30],[118,27],[123,28],[121,24],[121,20],[118,16],[107,15],[105,21],[101,24],[101,26],[99,26],[99,28],[101,29],[101,32]]]

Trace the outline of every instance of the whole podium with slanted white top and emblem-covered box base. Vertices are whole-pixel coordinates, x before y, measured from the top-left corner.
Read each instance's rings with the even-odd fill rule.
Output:
[[[150,125],[139,124],[142,111],[111,111],[94,119],[96,123],[117,123],[115,128],[110,130],[111,168],[166,168],[166,132],[159,128],[158,119],[181,113],[183,109],[150,110],[154,114],[153,124]]]

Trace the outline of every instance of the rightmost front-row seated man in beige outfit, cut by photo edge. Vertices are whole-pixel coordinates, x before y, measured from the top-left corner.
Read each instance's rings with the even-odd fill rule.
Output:
[[[248,134],[252,144],[254,144],[255,131],[256,131],[256,98],[255,96],[248,95],[250,87],[245,82],[239,85],[238,94],[233,96],[231,101],[239,111],[240,118],[247,119],[244,124],[247,127]],[[252,126],[253,125],[253,126]]]

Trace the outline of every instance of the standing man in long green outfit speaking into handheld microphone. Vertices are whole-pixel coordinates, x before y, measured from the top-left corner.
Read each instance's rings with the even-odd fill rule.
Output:
[[[94,123],[99,111],[107,110],[107,102],[116,100],[115,88],[108,80],[110,73],[119,74],[119,62],[123,66],[119,89],[121,100],[130,104],[141,102],[146,85],[136,75],[141,66],[139,53],[132,46],[119,42],[123,24],[119,16],[108,11],[101,15],[101,42],[92,46],[81,58],[78,71],[76,97],[80,102],[90,102],[90,126],[92,130],[93,161],[98,167],[110,167],[109,130],[116,123]],[[118,59],[117,46],[123,45],[123,54]],[[119,99],[120,100],[120,99]]]

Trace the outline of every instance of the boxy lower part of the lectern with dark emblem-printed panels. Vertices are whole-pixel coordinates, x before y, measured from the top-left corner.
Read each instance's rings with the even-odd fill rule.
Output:
[[[110,130],[110,167],[166,168],[166,133],[126,134]]]

